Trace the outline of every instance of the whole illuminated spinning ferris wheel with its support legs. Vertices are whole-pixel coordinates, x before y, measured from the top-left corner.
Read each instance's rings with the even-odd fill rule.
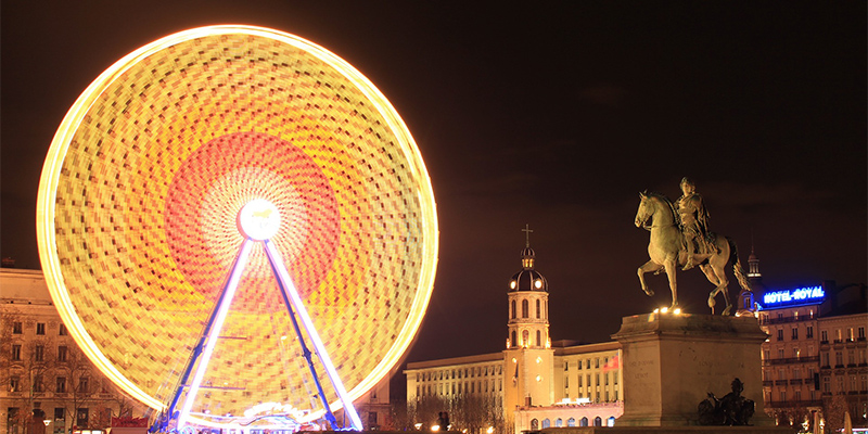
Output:
[[[213,26],[106,69],[42,171],[42,269],[79,346],[155,427],[290,426],[407,349],[437,221],[419,150],[358,71],[298,37]],[[268,422],[263,422],[268,421]]]

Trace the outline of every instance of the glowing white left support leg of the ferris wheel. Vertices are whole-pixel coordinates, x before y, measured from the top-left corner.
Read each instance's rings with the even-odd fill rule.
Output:
[[[195,400],[196,394],[199,393],[199,386],[202,385],[202,379],[205,376],[205,370],[208,368],[208,361],[214,353],[214,346],[217,344],[217,337],[220,334],[220,330],[224,328],[226,315],[229,312],[229,306],[232,304],[232,298],[235,296],[235,290],[238,290],[238,282],[241,279],[241,273],[244,271],[244,267],[247,265],[247,259],[250,258],[253,243],[253,240],[246,239],[241,244],[235,264],[232,265],[232,269],[229,271],[229,279],[227,279],[226,284],[220,292],[220,297],[217,299],[217,304],[214,306],[214,310],[212,310],[212,315],[208,318],[208,323],[205,326],[205,332],[203,333],[205,346],[202,348],[202,341],[200,341],[196,348],[193,349],[193,356],[184,369],[184,373],[182,375],[183,380],[190,375],[190,371],[193,369],[193,366],[196,365],[196,358],[200,359],[199,367],[193,375],[193,382],[190,384],[190,387],[187,391],[183,406],[178,413],[178,423],[176,425],[176,430],[179,432],[187,423],[187,418],[190,416],[190,410],[193,408],[193,400]],[[174,417],[175,405],[178,403],[178,398],[181,395],[181,390],[184,387],[184,382],[186,381],[180,382],[175,391],[173,404],[167,409],[167,420]]]

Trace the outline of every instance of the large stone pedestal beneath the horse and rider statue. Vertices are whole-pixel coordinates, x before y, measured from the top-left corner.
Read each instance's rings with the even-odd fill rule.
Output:
[[[761,347],[767,335],[754,317],[648,314],[624,317],[612,335],[622,345],[624,414],[615,426],[698,425],[697,407],[714,393],[753,399],[750,423],[773,425],[765,416]]]

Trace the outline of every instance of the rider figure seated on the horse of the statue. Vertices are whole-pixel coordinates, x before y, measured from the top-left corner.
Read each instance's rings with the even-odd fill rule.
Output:
[[[684,195],[675,204],[678,215],[681,217],[681,227],[687,244],[685,270],[697,266],[693,259],[694,254],[709,254],[716,251],[709,234],[709,212],[705,210],[702,196],[695,191],[697,186],[691,180],[682,178],[681,192]]]

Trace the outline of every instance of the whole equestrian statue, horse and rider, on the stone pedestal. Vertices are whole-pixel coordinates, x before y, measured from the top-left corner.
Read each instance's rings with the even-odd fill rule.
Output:
[[[663,271],[669,280],[672,290],[672,308],[678,307],[678,284],[675,277],[676,267],[689,270],[699,266],[712,284],[714,291],[709,294],[709,307],[714,314],[715,296],[724,294],[726,308],[722,315],[731,315],[732,304],[729,302],[729,281],[724,268],[732,263],[732,268],[742,294],[751,293],[751,285],[739,260],[736,242],[727,237],[718,237],[709,231],[709,213],[702,196],[695,192],[695,186],[687,178],[681,179],[681,195],[676,203],[658,193],[639,193],[639,209],[636,212],[636,227],[651,232],[648,243],[648,255],[651,260],[639,267],[639,283],[649,296],[654,291],[644,282],[644,273]],[[650,224],[649,224],[650,221]]]

